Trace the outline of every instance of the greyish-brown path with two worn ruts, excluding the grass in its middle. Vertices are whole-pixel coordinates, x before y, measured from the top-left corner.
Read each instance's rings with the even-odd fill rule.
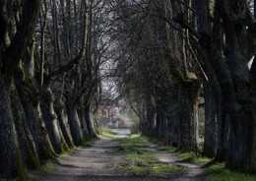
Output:
[[[117,137],[125,137],[129,131],[117,131]],[[95,142],[91,148],[74,151],[70,156],[63,158],[53,172],[44,172],[43,181],[163,181],[163,180],[204,180],[204,170],[198,165],[179,162],[177,157],[165,151],[158,151],[160,162],[167,162],[187,168],[187,172],[173,177],[147,177],[129,175],[121,172],[112,165],[122,161],[123,155],[109,153],[109,149],[118,147],[118,143],[112,139],[101,139]],[[150,149],[156,151],[153,145]]]

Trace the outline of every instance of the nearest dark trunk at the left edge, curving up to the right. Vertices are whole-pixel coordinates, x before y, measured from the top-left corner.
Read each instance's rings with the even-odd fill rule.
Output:
[[[14,122],[16,110],[11,105],[13,72],[26,53],[28,43],[39,11],[39,0],[25,0],[21,4],[22,16],[17,25],[16,33],[12,34],[10,42],[8,26],[12,18],[13,1],[0,1],[0,178],[10,178],[21,174],[25,168],[23,157],[17,138],[17,127]],[[8,38],[5,38],[8,37]],[[29,153],[29,152],[27,152]]]

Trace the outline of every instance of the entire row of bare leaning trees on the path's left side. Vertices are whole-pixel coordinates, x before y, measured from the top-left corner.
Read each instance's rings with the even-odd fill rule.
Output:
[[[101,6],[0,1],[0,179],[95,137]]]

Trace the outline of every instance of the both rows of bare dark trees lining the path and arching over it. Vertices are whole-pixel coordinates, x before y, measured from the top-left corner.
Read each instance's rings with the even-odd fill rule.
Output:
[[[142,134],[255,173],[254,10],[253,0],[0,0],[0,179],[94,138],[104,78]]]

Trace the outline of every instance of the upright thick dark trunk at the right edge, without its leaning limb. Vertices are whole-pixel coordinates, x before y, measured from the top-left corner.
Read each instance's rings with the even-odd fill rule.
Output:
[[[240,18],[247,16],[246,2],[224,1],[222,19],[226,43],[226,64],[231,77],[233,91],[232,102],[225,102],[236,109],[227,107],[227,119],[230,120],[230,133],[228,140],[228,161],[227,167],[246,172],[255,172],[255,110],[252,105],[249,86],[249,69],[247,66],[246,53],[249,51],[247,28],[244,25],[237,25],[233,15],[239,12]],[[234,6],[238,8],[233,8]],[[247,17],[246,17],[247,18]],[[251,45],[252,46],[252,45]],[[226,91],[226,90],[222,90]]]

